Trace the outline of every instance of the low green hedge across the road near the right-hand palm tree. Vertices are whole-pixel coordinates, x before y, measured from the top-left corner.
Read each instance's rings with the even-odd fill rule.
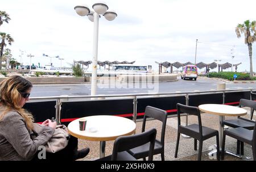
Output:
[[[236,80],[250,80],[250,75],[242,72],[210,72],[209,78],[223,78],[228,80],[234,80],[234,74],[237,74]]]

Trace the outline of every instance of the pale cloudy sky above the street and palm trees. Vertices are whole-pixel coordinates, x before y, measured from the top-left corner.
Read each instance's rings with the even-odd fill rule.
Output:
[[[1,0],[0,10],[10,15],[10,23],[0,32],[15,40],[9,48],[13,57],[30,64],[49,65],[50,58],[64,58],[62,66],[75,61],[92,60],[93,23],[76,14],[74,7],[99,1]],[[240,63],[238,71],[249,70],[249,53],[243,36],[237,38],[235,27],[243,21],[256,20],[255,0],[106,0],[118,14],[113,21],[100,19],[98,61],[136,61],[138,65],[157,62]],[[256,71],[256,44],[253,64]],[[232,59],[232,50],[234,59]],[[53,66],[61,61],[52,58]]]

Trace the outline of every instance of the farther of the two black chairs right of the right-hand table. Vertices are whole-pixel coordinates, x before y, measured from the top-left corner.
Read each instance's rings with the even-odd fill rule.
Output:
[[[232,128],[243,127],[248,130],[253,130],[255,122],[251,119],[253,118],[254,110],[256,110],[256,101],[241,99],[239,107],[251,108],[250,119],[238,117],[237,119],[226,119],[223,124]],[[237,154],[243,154],[243,143],[237,140]]]

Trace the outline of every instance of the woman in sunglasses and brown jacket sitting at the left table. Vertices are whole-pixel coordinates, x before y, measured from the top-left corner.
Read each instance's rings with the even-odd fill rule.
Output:
[[[35,125],[32,114],[22,107],[29,100],[32,84],[21,76],[10,76],[0,83],[0,161],[39,160],[39,147],[51,139],[56,122],[47,119],[42,131],[31,139]],[[56,153],[47,153],[46,160],[77,160],[85,157],[89,148],[77,151],[77,138],[71,136],[68,145]]]

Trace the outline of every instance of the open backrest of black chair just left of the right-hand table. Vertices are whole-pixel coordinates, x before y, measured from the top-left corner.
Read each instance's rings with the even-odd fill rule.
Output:
[[[201,122],[201,115],[200,115],[200,110],[197,107],[194,106],[187,106],[183,104],[177,103],[177,120],[178,120],[178,127],[181,126],[180,124],[180,114],[181,113],[186,113],[189,115],[196,115],[198,118],[198,124],[199,124],[199,134],[202,136],[202,122]]]

